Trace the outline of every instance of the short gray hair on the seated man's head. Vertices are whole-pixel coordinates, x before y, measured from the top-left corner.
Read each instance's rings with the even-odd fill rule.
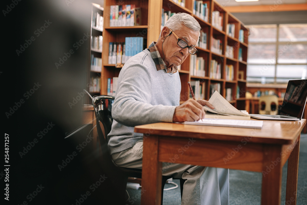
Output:
[[[197,43],[198,43],[201,27],[199,23],[196,21],[196,19],[192,17],[190,14],[187,14],[187,13],[174,14],[167,20],[164,26],[168,27],[171,30],[176,31],[181,25],[186,26],[192,31],[198,31],[198,39],[197,39]],[[160,32],[159,38],[161,36],[161,32]]]

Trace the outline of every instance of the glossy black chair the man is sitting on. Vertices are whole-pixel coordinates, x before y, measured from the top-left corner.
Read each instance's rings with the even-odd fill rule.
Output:
[[[98,131],[98,137],[102,152],[102,167],[103,171],[108,176],[111,177],[112,184],[114,185],[114,190],[118,192],[119,204],[125,204],[125,194],[128,177],[142,178],[142,169],[132,169],[123,168],[117,166],[109,153],[107,144],[107,135],[111,131],[111,126],[113,123],[113,118],[111,115],[112,105],[114,102],[113,96],[98,95],[92,98],[95,116],[96,116],[96,127]],[[104,133],[103,133],[104,131]],[[163,188],[167,179],[172,178],[172,176],[162,176],[162,193],[161,193],[161,204],[163,201]],[[180,179],[181,196],[183,190],[184,179]]]

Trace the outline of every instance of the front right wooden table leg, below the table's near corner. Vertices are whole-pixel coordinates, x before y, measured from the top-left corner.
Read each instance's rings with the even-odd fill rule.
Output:
[[[279,205],[282,191],[281,146],[264,146],[262,205]]]

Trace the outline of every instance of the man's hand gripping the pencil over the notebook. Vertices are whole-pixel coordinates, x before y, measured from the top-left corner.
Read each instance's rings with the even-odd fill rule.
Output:
[[[203,105],[193,99],[188,99],[176,107],[173,122],[185,122],[200,120],[205,117]]]

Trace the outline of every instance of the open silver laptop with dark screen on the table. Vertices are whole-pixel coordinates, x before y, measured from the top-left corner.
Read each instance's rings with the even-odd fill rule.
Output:
[[[307,100],[307,79],[288,82],[282,105],[278,106],[278,115],[249,114],[259,120],[301,120]]]

